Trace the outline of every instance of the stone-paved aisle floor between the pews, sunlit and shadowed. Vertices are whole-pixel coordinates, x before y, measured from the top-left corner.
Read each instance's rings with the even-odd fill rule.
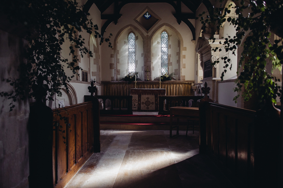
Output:
[[[169,138],[169,131],[101,130],[94,153],[65,188],[233,187],[198,154],[198,131]]]

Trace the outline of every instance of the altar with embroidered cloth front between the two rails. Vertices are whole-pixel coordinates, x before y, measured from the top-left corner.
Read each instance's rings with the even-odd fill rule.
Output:
[[[158,96],[166,95],[166,89],[130,89],[133,111],[158,111]]]

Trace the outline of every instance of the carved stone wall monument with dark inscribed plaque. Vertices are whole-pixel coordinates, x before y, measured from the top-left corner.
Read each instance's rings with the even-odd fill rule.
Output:
[[[213,41],[210,38],[215,38]],[[221,80],[219,75],[219,64],[214,66],[211,64],[219,58],[219,49],[223,46],[224,39],[219,39],[219,35],[212,33],[203,33],[203,36],[198,39],[195,51],[200,54],[200,66],[203,69],[203,80],[207,82],[210,90],[210,99],[218,103],[218,81]]]

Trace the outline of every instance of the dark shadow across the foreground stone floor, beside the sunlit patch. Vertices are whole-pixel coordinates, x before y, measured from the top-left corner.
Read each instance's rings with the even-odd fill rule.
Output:
[[[150,173],[129,170],[119,172],[113,188],[224,188],[234,186],[226,179],[223,173],[206,156],[197,154],[186,160],[170,165],[176,170],[165,170],[168,167]],[[127,178],[127,176],[130,176]],[[169,177],[169,178],[168,178]]]

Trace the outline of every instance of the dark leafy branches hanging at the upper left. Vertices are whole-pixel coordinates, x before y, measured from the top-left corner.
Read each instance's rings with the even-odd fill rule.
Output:
[[[26,61],[19,66],[20,78],[5,79],[14,90],[0,93],[12,100],[10,111],[18,97],[53,100],[53,95],[62,95],[63,86],[68,91],[67,83],[74,75],[67,76],[64,67],[78,74],[78,56],[89,54],[92,57],[80,32],[93,33],[95,38],[100,38],[100,44],[105,41],[111,47],[109,38],[112,35],[103,38],[98,26],[88,18],[90,14],[84,12],[76,0],[13,0],[1,2],[0,7],[1,14],[6,16],[2,16],[4,19],[24,28],[24,39],[28,42],[24,54]],[[61,45],[65,42],[70,43],[71,59],[62,56]],[[77,49],[79,54],[75,53]]]

